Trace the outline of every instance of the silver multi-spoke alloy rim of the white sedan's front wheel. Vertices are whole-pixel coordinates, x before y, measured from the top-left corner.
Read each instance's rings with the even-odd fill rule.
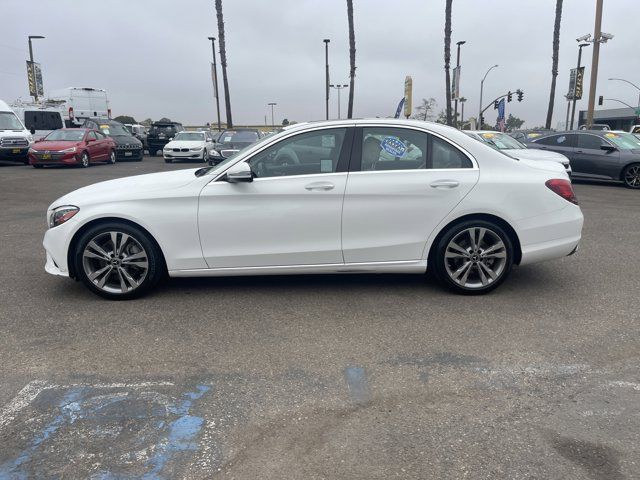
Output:
[[[149,257],[133,236],[119,231],[93,237],[82,252],[87,278],[100,290],[125,294],[137,289],[149,271]]]

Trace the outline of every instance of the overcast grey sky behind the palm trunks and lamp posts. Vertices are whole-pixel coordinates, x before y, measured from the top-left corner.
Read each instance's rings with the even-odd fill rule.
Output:
[[[356,65],[354,116],[388,116],[413,77],[414,105],[434,97],[444,107],[444,0],[354,0]],[[462,47],[461,94],[465,117],[477,115],[480,80],[485,103],[521,88],[522,103],[507,113],[525,126],[544,124],[551,82],[555,0],[454,0],[455,42]],[[602,30],[615,35],[600,55],[598,95],[631,105],[638,91],[609,77],[640,85],[638,0],[605,0]],[[184,124],[215,121],[210,75],[210,35],[218,36],[213,0],[2,0],[10,22],[0,37],[0,98],[28,98],[27,36],[42,64],[45,93],[67,86],[108,91],[114,116],[138,120],[167,116]],[[234,123],[263,124],[268,102],[276,122],[324,118],[324,44],[330,38],[332,83],[347,83],[349,44],[346,0],[224,0],[228,73]],[[569,69],[577,61],[576,37],[593,33],[595,0],[565,0],[553,124],[564,121]],[[22,19],[22,21],[19,21]],[[586,78],[591,47],[583,50]],[[219,61],[219,60],[218,60]],[[218,67],[220,67],[218,65]],[[224,100],[220,75],[221,110]],[[578,108],[586,108],[585,96]],[[342,112],[346,113],[347,90]],[[605,107],[622,105],[607,102]],[[331,117],[337,118],[332,92]],[[487,119],[493,121],[494,111]]]

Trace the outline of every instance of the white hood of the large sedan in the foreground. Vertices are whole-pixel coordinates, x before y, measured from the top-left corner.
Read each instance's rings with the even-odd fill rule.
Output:
[[[144,198],[150,192],[162,191],[166,193],[197,180],[198,177],[194,174],[196,170],[198,169],[190,168],[187,170],[149,173],[94,183],[60,197],[51,204],[51,207],[76,205],[82,208],[83,205],[94,203]]]

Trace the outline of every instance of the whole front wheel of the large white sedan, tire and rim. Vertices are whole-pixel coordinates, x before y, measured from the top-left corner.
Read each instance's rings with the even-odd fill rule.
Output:
[[[144,295],[166,271],[156,243],[147,233],[126,223],[91,228],[76,245],[78,277],[92,292],[110,300]]]

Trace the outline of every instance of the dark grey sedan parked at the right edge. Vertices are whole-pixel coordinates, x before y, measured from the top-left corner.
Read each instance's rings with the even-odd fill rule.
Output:
[[[640,142],[630,133],[556,132],[534,140],[530,147],[569,158],[576,178],[616,180],[626,187],[640,188]]]

